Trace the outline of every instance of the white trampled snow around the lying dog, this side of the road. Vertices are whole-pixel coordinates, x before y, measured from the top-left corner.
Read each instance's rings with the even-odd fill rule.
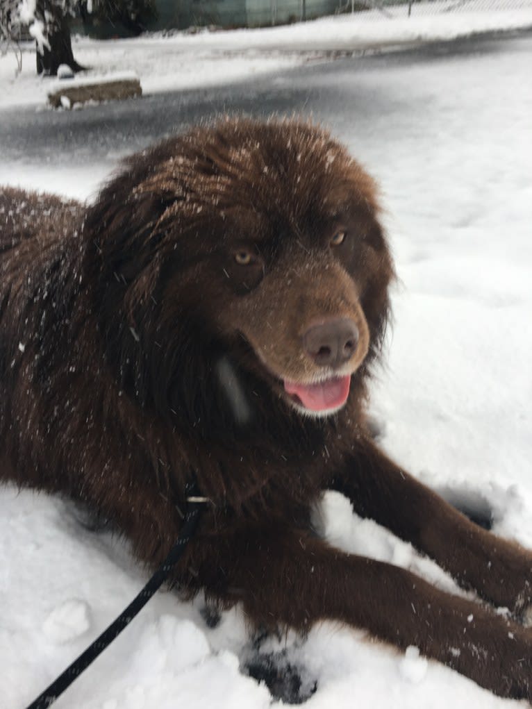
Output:
[[[145,43],[152,41],[162,42]],[[428,484],[483,502],[497,532],[532,547],[531,58],[531,44],[516,40],[514,50],[359,72],[358,100],[386,96],[392,118],[354,125],[343,111],[330,123],[382,184],[401,279],[388,364],[372,399],[382,445]],[[77,195],[79,184],[88,195],[103,177],[97,164],[38,175],[43,189]],[[35,176],[11,166],[9,181],[34,185]],[[328,536],[344,549],[453,589],[409,545],[353,517],[337,494],[326,497],[325,516]],[[2,489],[2,707],[33,699],[144,581],[123,543],[84,530],[67,504]],[[209,630],[200,609],[201,599],[159,593],[57,708],[270,706],[265,686],[239,671],[249,652],[239,610]],[[304,642],[289,637],[265,649],[285,645],[304,681],[318,683],[309,709],[516,705],[331,623]]]

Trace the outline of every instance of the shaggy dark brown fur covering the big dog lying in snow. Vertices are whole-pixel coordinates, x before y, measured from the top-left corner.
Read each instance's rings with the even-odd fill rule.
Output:
[[[343,147],[290,121],[167,140],[87,210],[4,190],[2,475],[88,503],[153,567],[195,474],[211,504],[175,579],[189,596],[239,601],[256,626],[364,627],[531,698],[532,555],[399,469],[365,424],[393,278],[378,212]],[[301,396],[331,377],[350,380],[345,405],[310,415]],[[487,603],[318,538],[326,488]]]

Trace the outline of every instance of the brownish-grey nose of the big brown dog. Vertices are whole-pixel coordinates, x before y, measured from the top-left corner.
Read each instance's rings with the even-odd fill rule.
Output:
[[[303,335],[303,347],[316,364],[338,367],[353,357],[358,345],[358,328],[349,318],[313,325]]]

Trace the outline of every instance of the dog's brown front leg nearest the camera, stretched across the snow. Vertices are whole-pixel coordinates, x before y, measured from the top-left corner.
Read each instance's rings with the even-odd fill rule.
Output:
[[[529,631],[405,569],[277,528],[246,529],[213,562],[200,570],[207,592],[242,601],[254,625],[306,630],[319,620],[348,623],[397,647],[415,645],[501,696],[532,696]]]

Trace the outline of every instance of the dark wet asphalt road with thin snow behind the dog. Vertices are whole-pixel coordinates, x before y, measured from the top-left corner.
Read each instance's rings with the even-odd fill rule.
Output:
[[[384,87],[379,89],[377,81],[375,90],[367,95],[367,82],[357,82],[360,72],[379,72],[389,67],[407,70],[410,66],[467,55],[493,55],[509,48],[532,55],[532,31],[431,43],[382,54],[324,57],[289,72],[255,77],[253,81],[153,94],[82,111],[4,110],[0,111],[0,159],[55,165],[64,162],[66,154],[72,164],[113,161],[221,113],[311,115],[339,128],[341,134],[343,122],[353,125],[363,121],[367,125],[383,114],[393,120],[397,108],[393,105],[397,96],[390,98]]]

